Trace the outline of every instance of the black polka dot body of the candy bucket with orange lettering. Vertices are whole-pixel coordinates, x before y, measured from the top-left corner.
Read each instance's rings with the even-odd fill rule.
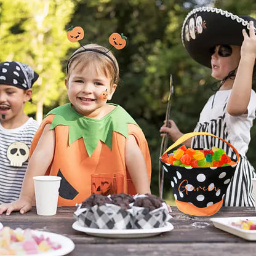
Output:
[[[162,161],[161,161],[162,162]],[[223,167],[181,167],[162,162],[170,179],[174,198],[204,208],[220,202],[236,170],[236,164]]]

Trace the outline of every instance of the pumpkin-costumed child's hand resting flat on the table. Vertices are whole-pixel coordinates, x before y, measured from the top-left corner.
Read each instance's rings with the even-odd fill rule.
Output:
[[[18,199],[17,201],[10,202],[9,204],[0,205],[0,215],[6,212],[6,215],[10,215],[13,211],[20,211],[20,214],[25,214],[31,209],[31,202],[25,199]]]

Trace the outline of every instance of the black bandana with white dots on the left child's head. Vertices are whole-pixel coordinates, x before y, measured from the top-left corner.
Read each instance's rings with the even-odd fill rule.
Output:
[[[25,63],[0,63],[0,84],[8,84],[23,90],[30,89],[38,79],[38,74]]]

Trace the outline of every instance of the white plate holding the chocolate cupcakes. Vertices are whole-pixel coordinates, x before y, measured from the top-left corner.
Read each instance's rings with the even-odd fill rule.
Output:
[[[78,221],[72,225],[74,230],[82,231],[90,236],[100,236],[102,238],[148,238],[157,234],[171,231],[174,229],[172,223],[167,222],[162,228],[150,228],[145,230],[105,230],[100,228],[86,228],[81,226]]]

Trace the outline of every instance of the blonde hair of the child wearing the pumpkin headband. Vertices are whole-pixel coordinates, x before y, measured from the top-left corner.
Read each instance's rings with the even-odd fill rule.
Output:
[[[95,49],[99,50],[100,52],[94,52],[93,50],[84,50],[84,49]],[[81,52],[78,54],[78,52]],[[109,55],[111,58],[109,58]],[[114,62],[114,63],[113,63]],[[68,79],[70,78],[71,72],[76,68],[78,72],[81,72],[86,68],[88,65],[95,66],[97,72],[102,72],[105,74],[107,78],[110,78],[110,86],[113,84],[118,84],[119,79],[119,66],[116,60],[116,57],[110,52],[106,47],[99,46],[98,44],[86,44],[84,47],[80,47],[76,50],[73,55],[71,55],[70,59],[68,60],[67,65],[67,73]]]

